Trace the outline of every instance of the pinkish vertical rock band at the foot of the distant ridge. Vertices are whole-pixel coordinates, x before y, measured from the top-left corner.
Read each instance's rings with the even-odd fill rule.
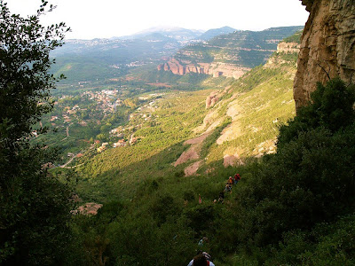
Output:
[[[211,74],[213,77],[225,76],[233,77],[234,79],[240,78],[243,74],[247,73],[249,67],[235,66],[227,63],[198,63],[185,64],[177,59],[170,59],[168,62],[163,63],[157,67],[158,71],[171,71],[173,74]]]

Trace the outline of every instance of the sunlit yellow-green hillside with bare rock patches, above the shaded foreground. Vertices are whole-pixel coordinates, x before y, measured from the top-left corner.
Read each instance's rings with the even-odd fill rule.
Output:
[[[78,169],[83,197],[103,200],[120,191],[124,199],[137,178],[203,176],[274,153],[278,126],[295,114],[295,73],[296,54],[280,50],[224,90],[167,91],[141,106],[125,127],[138,143],[108,149]]]

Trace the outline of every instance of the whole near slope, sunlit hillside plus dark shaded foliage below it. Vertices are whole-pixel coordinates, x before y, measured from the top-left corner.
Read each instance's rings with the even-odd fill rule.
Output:
[[[79,250],[123,265],[185,265],[201,248],[222,266],[353,264],[355,94],[329,82],[295,118],[298,38],[222,90],[143,96],[120,129],[133,145],[77,161],[76,192],[104,204],[75,220]],[[324,108],[338,90],[349,98]],[[343,108],[352,120],[337,119]]]

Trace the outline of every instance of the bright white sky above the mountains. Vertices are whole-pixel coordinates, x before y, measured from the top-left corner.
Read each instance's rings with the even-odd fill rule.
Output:
[[[67,39],[132,35],[150,27],[208,30],[233,27],[263,30],[304,25],[308,12],[299,0],[48,0],[57,8],[42,23],[65,22]],[[12,13],[36,13],[41,0],[4,0]]]

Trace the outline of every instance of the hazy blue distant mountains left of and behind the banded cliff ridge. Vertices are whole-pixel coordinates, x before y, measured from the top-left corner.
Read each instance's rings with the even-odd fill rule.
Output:
[[[132,67],[161,63],[189,43],[225,33],[231,27],[203,32],[182,27],[154,27],[135,35],[110,39],[66,40],[51,52],[54,74],[65,74],[67,82],[102,80],[127,74]]]

